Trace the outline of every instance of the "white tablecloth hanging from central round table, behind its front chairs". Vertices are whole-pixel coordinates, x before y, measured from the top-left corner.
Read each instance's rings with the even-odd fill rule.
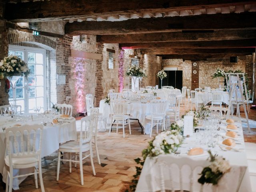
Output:
[[[110,105],[106,104],[105,100],[100,101],[99,112],[102,113],[102,120],[110,124]],[[126,103],[126,114],[130,114],[131,118],[138,119],[146,134],[150,134],[150,124],[147,124],[145,117],[150,113],[150,103],[141,103],[140,101]]]

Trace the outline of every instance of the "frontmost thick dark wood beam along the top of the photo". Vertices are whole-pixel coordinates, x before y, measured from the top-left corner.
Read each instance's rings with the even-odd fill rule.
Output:
[[[169,12],[255,4],[254,0],[50,0],[7,4],[5,18],[39,22],[81,17]]]

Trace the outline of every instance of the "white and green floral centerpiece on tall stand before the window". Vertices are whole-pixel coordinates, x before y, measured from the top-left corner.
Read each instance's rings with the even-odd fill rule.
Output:
[[[14,75],[22,76],[24,74],[27,77],[30,74],[28,64],[17,56],[10,55],[5,57],[0,62],[0,76],[11,77]]]

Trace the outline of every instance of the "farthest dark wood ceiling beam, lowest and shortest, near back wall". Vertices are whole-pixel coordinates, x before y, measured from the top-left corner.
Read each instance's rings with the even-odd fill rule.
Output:
[[[209,59],[229,59],[229,57],[235,56],[246,56],[248,54],[237,53],[237,54],[194,54],[194,55],[157,55],[162,56],[162,59],[184,59],[184,60],[192,60],[192,61],[200,61],[200,60],[209,60]]]

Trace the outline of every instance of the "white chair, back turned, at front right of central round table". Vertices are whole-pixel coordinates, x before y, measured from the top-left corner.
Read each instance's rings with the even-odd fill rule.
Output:
[[[152,136],[153,127],[156,125],[156,132],[158,133],[158,125],[162,124],[162,130],[165,130],[165,112],[167,107],[166,101],[153,100],[150,103],[151,113],[146,115],[147,124],[150,124],[150,138]],[[162,122],[161,122],[162,121]]]

